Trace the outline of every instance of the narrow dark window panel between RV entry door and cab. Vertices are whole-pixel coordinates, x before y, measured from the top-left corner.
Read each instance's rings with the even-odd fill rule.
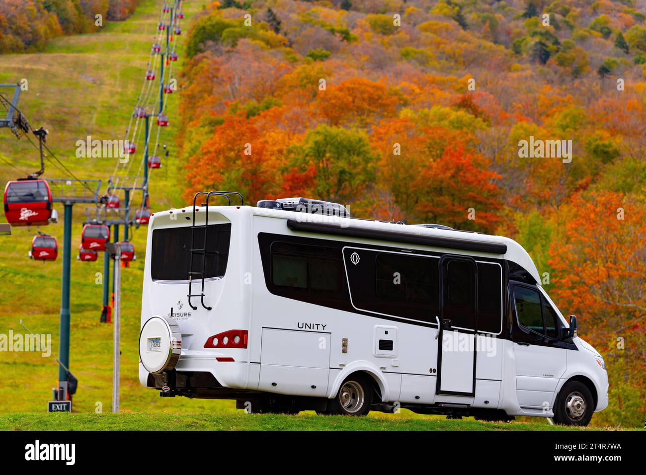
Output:
[[[503,325],[503,269],[498,264],[477,263],[478,330],[498,334]]]

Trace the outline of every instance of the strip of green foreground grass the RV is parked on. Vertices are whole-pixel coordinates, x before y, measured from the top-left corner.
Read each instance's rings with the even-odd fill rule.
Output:
[[[6,414],[6,430],[588,430],[550,426],[544,419],[532,422],[489,423],[472,419],[448,420],[433,416],[368,417],[300,414]],[[537,421],[536,421],[537,420]]]

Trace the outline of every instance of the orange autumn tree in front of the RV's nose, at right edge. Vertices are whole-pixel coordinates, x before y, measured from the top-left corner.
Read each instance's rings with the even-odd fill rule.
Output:
[[[548,264],[559,308],[606,358],[610,406],[600,417],[634,424],[646,410],[646,204],[610,191],[575,195],[561,209]],[[643,419],[643,417],[641,417]]]

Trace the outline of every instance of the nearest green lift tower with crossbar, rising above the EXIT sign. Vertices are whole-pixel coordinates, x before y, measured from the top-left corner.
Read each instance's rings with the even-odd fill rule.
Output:
[[[58,390],[57,401],[68,401],[76,392],[70,387],[68,392],[67,368],[70,366],[70,267],[72,260],[72,206],[76,203],[98,203],[101,180],[72,180],[67,178],[48,178],[52,201],[63,203],[65,221],[63,227],[63,279],[61,284],[60,342],[58,349]]]

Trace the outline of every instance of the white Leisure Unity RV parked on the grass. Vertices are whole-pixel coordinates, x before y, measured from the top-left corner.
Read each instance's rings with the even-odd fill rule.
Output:
[[[568,425],[608,405],[603,358],[514,240],[197,198],[149,223],[139,376],[161,396]]]

